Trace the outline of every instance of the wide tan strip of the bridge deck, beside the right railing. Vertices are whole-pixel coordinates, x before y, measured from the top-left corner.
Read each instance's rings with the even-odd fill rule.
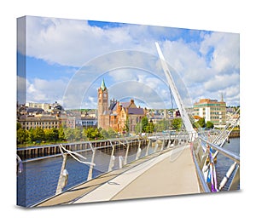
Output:
[[[168,155],[133,180],[112,200],[199,193],[195,164],[189,146],[183,151],[173,152],[171,157],[170,152]]]

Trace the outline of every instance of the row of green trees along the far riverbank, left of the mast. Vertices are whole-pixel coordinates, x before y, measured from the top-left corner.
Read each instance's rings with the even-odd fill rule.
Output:
[[[137,123],[135,127],[136,134],[139,133],[154,133],[161,132],[166,129],[180,130],[182,127],[182,119],[175,118],[172,121],[163,119],[160,122],[154,124],[148,121],[148,117],[143,117],[140,123]],[[129,123],[126,123],[122,137],[129,135]],[[17,145],[27,146],[35,144],[47,144],[65,141],[79,141],[79,140],[105,140],[110,138],[119,137],[119,134],[113,129],[96,129],[96,128],[63,128],[59,129],[22,129],[20,123],[17,123]]]

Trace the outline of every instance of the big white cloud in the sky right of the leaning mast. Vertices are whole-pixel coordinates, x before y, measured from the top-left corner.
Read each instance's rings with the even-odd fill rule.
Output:
[[[166,60],[177,71],[174,76],[179,74],[183,79],[193,102],[200,98],[219,100],[220,91],[228,95],[230,89],[236,89],[234,105],[239,105],[239,35],[212,32],[198,47],[200,52],[183,40],[163,43]]]

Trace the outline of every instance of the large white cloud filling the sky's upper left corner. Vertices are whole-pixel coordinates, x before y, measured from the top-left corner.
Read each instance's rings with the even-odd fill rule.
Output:
[[[102,29],[89,26],[84,20],[41,17],[27,17],[26,24],[26,54],[49,63],[82,66],[119,49],[141,49],[131,31],[143,26]]]

